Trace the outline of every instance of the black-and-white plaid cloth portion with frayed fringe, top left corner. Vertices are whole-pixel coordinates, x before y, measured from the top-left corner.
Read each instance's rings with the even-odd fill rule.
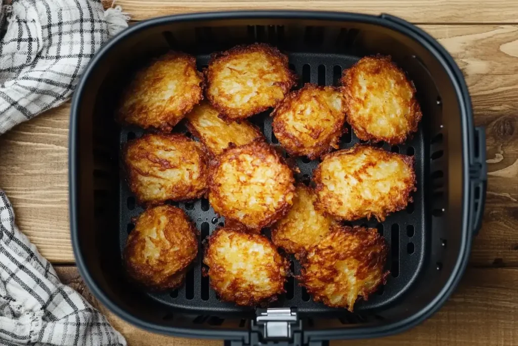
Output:
[[[0,134],[65,102],[95,52],[127,26],[120,8],[119,21],[107,23],[116,9],[105,13],[99,0],[13,0],[4,8]]]

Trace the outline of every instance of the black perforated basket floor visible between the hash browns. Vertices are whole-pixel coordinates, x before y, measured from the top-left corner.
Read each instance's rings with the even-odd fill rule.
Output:
[[[313,82],[319,85],[338,85],[343,69],[350,67],[359,58],[342,54],[321,54],[321,53],[292,53],[288,54],[290,65],[299,76],[300,88],[306,82]],[[207,55],[198,56],[198,67],[201,69],[208,62]],[[252,117],[250,120],[257,124],[272,145],[278,145],[277,139],[271,131],[271,118],[269,112],[264,112]],[[174,132],[186,132],[185,127],[180,123]],[[121,147],[128,139],[139,137],[143,130],[133,127],[121,129]],[[188,133],[188,135],[190,135]],[[359,140],[352,133],[351,129],[343,135],[341,148],[349,148]],[[423,249],[425,248],[425,229],[426,219],[424,204],[424,158],[427,157],[424,147],[423,130],[420,127],[412,140],[404,145],[389,146],[386,143],[378,144],[385,150],[392,150],[407,155],[415,155],[415,172],[417,176],[417,192],[412,197],[414,202],[410,203],[406,210],[397,212],[386,218],[385,222],[377,223],[375,219],[359,220],[354,225],[366,225],[376,227],[380,234],[383,234],[387,244],[390,246],[389,257],[387,259],[387,269],[391,275],[384,287],[373,294],[368,301],[357,301],[356,312],[371,309],[381,309],[391,303],[414,281],[416,274],[423,261]],[[300,174],[297,179],[309,182],[312,171],[319,164],[318,160],[310,161],[307,158],[296,159]],[[171,203],[181,207],[191,217],[196,227],[200,230],[202,241],[218,226],[224,225],[224,218],[217,218],[212,207],[206,199],[196,200],[194,203]],[[142,207],[135,204],[135,198],[128,189],[124,179],[120,179],[120,251],[124,248],[127,235],[131,232],[134,225],[132,217],[138,216],[142,212]],[[268,230],[265,230],[269,234]],[[218,299],[215,292],[209,288],[209,279],[202,276],[202,251],[198,252],[198,257],[186,276],[185,285],[181,288],[164,293],[148,293],[153,299],[168,305],[171,308],[188,310],[193,314],[218,315],[222,313],[243,314],[253,311],[253,308],[236,307],[233,303],[222,302]],[[292,270],[298,273],[300,266],[292,258]],[[290,278],[285,286],[286,293],[280,299],[272,303],[271,307],[297,307],[299,313],[333,313],[343,309],[328,308],[321,303],[315,303],[306,293],[303,287],[298,286],[297,280]]]

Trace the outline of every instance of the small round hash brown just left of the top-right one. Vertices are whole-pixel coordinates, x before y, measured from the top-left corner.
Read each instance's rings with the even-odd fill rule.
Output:
[[[346,129],[346,100],[339,88],[306,84],[275,108],[272,128],[292,156],[314,160],[333,148]]]

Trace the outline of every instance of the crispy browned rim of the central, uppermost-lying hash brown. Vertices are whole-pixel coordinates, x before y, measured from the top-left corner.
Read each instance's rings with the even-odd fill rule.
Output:
[[[249,224],[243,223],[242,220],[234,217],[233,215],[230,215],[231,213],[228,211],[228,206],[226,203],[222,203],[222,196],[219,192],[219,184],[215,181],[215,176],[218,174],[219,168],[221,167],[222,163],[225,161],[231,161],[238,159],[239,155],[241,154],[247,154],[251,157],[256,157],[260,160],[265,160],[267,156],[274,156],[277,160],[277,163],[286,169],[287,176],[287,183],[286,185],[286,191],[284,192],[285,195],[295,194],[295,178],[293,177],[293,170],[287,165],[282,158],[282,156],[279,155],[277,150],[270,146],[268,143],[257,140],[252,143],[249,143],[247,145],[243,145],[240,147],[230,147],[227,148],[221,155],[216,156],[209,162],[209,201],[212,205],[214,211],[218,213],[219,215],[223,215],[226,219],[233,220],[236,223],[242,224],[243,226],[246,226],[249,230],[255,230],[260,231],[263,227],[268,227],[274,224],[278,219],[286,215],[286,213],[290,210],[291,206],[293,205],[293,197],[291,199],[291,203],[289,201],[284,201],[283,205],[279,207],[276,212],[270,216],[264,217],[262,220],[255,223],[254,226],[250,226]],[[232,208],[231,212],[235,208]],[[236,209],[237,210],[237,209]]]

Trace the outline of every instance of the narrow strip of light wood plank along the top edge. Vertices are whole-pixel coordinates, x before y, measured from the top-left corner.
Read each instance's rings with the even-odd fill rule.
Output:
[[[390,13],[414,23],[516,23],[518,3],[514,0],[118,0],[133,20],[189,12],[228,10],[320,10]]]

